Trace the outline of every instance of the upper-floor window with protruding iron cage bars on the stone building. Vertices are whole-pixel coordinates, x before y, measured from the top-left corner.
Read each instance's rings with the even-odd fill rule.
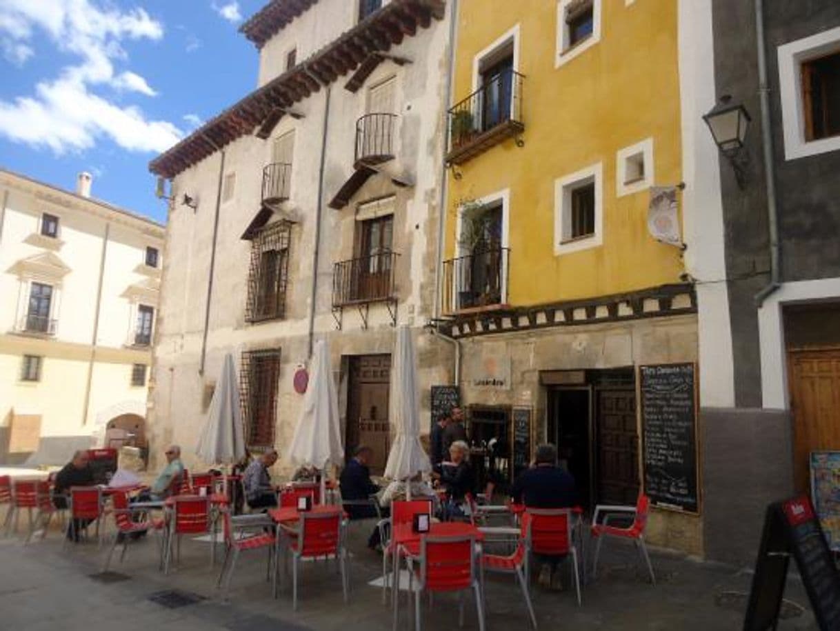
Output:
[[[249,322],[286,317],[286,284],[289,267],[291,223],[271,223],[251,242],[248,273]]]

